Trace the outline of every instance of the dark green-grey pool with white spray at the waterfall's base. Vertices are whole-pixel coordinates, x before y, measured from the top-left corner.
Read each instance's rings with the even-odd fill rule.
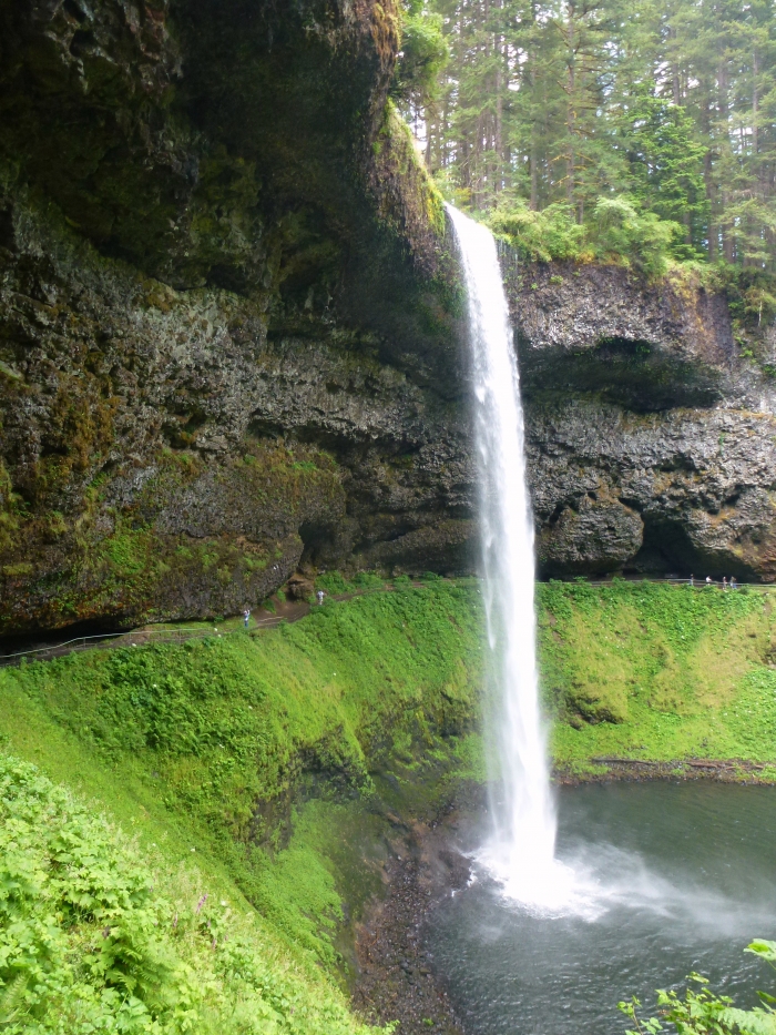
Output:
[[[776,938],[776,788],[562,788],[557,858],[578,893],[554,914],[478,872],[428,916],[426,947],[468,1035],[623,1035],[621,1000],[697,971],[738,1006],[776,975],[743,952]],[[462,823],[463,849],[481,843]]]

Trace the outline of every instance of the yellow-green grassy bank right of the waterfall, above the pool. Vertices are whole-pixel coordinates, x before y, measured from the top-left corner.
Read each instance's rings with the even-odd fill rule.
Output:
[[[539,600],[559,769],[727,759],[776,780],[776,593],[550,582]]]

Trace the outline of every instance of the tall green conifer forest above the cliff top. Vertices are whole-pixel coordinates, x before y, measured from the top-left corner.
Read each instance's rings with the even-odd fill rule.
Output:
[[[410,0],[395,98],[532,258],[776,271],[773,0]]]

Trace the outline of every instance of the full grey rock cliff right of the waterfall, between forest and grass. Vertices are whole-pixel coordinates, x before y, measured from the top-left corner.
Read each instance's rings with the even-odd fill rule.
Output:
[[[769,337],[692,280],[506,268],[542,571],[776,578]]]

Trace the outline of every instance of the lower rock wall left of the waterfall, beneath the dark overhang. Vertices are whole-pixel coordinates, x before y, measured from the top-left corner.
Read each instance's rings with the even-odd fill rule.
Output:
[[[466,420],[310,316],[176,292],[20,219],[6,251],[6,628],[239,610],[298,567],[469,567]]]

